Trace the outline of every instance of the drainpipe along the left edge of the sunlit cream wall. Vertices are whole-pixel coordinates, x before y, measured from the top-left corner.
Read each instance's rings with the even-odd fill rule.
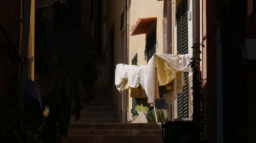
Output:
[[[124,12],[123,12],[123,55],[124,60],[123,64],[128,64],[127,57],[127,0],[123,0],[124,3]],[[127,102],[128,102],[128,91],[124,91],[123,96],[123,110],[122,110],[122,123],[126,123],[127,121]]]

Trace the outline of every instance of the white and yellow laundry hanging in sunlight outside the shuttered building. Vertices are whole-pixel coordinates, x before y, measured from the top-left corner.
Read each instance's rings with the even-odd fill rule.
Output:
[[[147,65],[118,64],[115,71],[116,87],[122,93],[124,90],[141,85],[146,92],[147,102],[154,104],[155,100],[159,99],[158,86],[172,81],[174,83],[173,90],[164,97],[170,104],[176,98],[177,93],[182,93],[183,72],[192,71],[188,66],[191,58],[192,56],[189,54],[155,53]]]

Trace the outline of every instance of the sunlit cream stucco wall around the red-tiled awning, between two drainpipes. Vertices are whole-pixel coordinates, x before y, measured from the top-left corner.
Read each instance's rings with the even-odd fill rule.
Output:
[[[146,36],[151,33],[152,28],[156,27],[157,53],[163,53],[163,7],[164,1],[157,0],[131,0],[129,4],[129,65],[132,65],[132,59],[138,53],[138,65],[146,65],[144,60],[144,50],[146,46]],[[147,34],[131,36],[132,26],[136,24],[138,18],[157,17],[157,22],[150,27]],[[129,116],[132,119],[132,98],[129,97]]]

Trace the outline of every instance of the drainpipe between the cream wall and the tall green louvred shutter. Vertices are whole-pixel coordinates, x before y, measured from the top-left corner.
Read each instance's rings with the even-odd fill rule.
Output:
[[[172,54],[172,0],[166,1],[167,12],[167,53]],[[168,107],[167,121],[173,121],[173,104]]]

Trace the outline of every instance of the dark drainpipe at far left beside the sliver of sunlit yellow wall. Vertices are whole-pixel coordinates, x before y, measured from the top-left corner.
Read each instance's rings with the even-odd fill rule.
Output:
[[[29,25],[30,25],[30,8],[31,0],[23,1],[22,13],[22,47],[20,49],[20,56],[23,64],[19,67],[19,86],[18,86],[18,101],[20,108],[24,108],[24,94],[27,85],[27,61],[28,61],[28,47],[29,47]]]

